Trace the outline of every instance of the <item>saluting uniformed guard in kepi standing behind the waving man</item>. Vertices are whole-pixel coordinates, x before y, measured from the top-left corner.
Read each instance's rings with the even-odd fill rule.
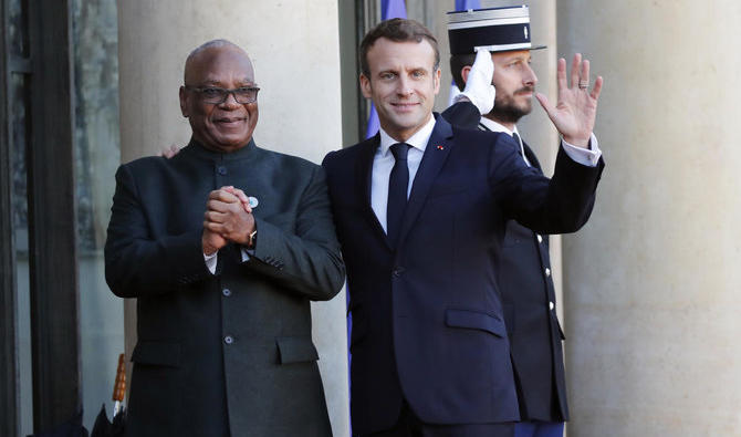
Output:
[[[493,108],[482,108],[481,115],[473,104],[458,103],[443,112],[442,116],[457,126],[512,136],[525,165],[542,174],[538,157],[516,127],[516,122],[532,111],[531,95],[538,83],[538,76],[530,67],[531,51],[512,50],[511,39],[505,38],[507,32],[502,31],[508,21],[480,17],[482,14],[491,15],[491,12],[472,11],[465,15],[469,22],[476,18],[489,20],[488,33],[493,37],[487,41],[471,40],[468,48],[456,48],[468,53],[451,55],[450,70],[456,85],[460,90],[468,90],[463,96],[472,93],[470,101],[479,105],[489,97]],[[491,56],[482,56],[474,63],[474,45],[484,44]],[[483,75],[476,74],[478,70],[491,67],[493,79],[489,82]],[[492,83],[497,90],[495,97],[479,91]],[[593,138],[593,148],[596,148],[595,145],[596,138]],[[563,436],[564,422],[568,419],[561,343],[564,336],[555,311],[551,273],[549,236],[540,235],[515,220],[508,221],[500,259],[499,288],[522,419],[515,424],[515,437]]]

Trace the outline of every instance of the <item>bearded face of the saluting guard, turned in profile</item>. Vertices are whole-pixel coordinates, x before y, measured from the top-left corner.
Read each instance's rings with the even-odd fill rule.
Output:
[[[516,123],[532,111],[532,97],[538,83],[530,67],[530,51],[492,53],[494,62],[493,84],[497,89],[494,107],[488,118],[504,125]]]

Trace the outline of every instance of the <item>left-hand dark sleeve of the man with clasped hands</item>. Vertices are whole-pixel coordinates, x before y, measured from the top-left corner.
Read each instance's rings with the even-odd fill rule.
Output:
[[[105,279],[113,293],[166,293],[210,277],[201,230],[155,238],[134,175],[128,166],[118,167],[105,242]]]

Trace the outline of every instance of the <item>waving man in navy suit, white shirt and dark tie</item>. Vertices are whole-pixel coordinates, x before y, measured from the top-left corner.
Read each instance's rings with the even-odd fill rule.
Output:
[[[347,267],[361,436],[512,435],[519,412],[495,269],[505,223],[578,229],[602,169],[562,150],[549,180],[511,137],[451,126],[432,114],[438,64],[424,25],[393,19],[370,30],[361,89],[380,132],[323,163]],[[588,147],[599,86],[565,86],[565,66],[560,79],[556,125]]]

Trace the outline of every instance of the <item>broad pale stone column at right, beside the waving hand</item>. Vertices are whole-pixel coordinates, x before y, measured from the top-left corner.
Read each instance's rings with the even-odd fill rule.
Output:
[[[607,167],[564,238],[570,435],[741,435],[741,4],[557,4],[559,51],[605,77]]]

